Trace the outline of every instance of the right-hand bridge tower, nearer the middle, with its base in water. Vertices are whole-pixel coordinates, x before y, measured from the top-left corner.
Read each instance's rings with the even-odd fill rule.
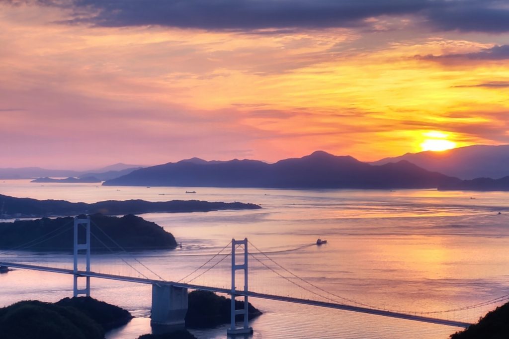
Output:
[[[236,262],[236,248],[237,245],[243,245],[244,246],[244,263],[238,265]],[[248,302],[247,302],[247,238],[244,238],[244,240],[235,240],[232,239],[232,313],[231,313],[231,326],[227,330],[228,334],[248,334],[252,333],[253,329],[252,327],[249,327],[247,324],[248,321]],[[237,270],[244,270],[244,307],[241,309],[236,309],[235,307],[235,297],[239,296],[236,294],[236,287],[235,287],[235,271]],[[243,315],[244,316],[244,322],[243,326],[240,328],[237,328],[235,324],[235,316],[236,315]]]

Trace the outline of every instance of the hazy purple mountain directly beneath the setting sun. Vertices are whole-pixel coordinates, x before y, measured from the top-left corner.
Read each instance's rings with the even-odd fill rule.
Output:
[[[428,171],[440,172],[460,179],[480,177],[502,178],[509,175],[509,145],[474,145],[443,152],[407,153],[385,158],[373,165],[407,160]]]

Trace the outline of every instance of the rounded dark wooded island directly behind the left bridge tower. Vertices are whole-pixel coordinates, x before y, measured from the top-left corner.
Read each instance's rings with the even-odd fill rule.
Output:
[[[71,251],[73,224],[71,217],[1,222],[0,248],[9,249],[33,240],[32,245],[27,245],[27,250]],[[108,248],[119,250],[118,245],[127,250],[171,249],[177,246],[177,241],[171,233],[164,231],[155,222],[132,214],[123,217],[94,214],[91,216],[90,227],[91,233],[95,235],[91,237],[91,249],[96,251],[108,251]],[[47,234],[50,236],[42,241]],[[84,242],[82,237],[84,232],[79,234],[80,242]]]

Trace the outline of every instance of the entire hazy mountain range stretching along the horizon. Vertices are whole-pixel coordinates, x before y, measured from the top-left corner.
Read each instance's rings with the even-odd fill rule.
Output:
[[[369,163],[317,151],[272,164],[190,158],[145,168],[131,166],[136,165],[119,163],[87,172],[0,168],[0,179],[95,177],[110,186],[509,190],[509,145],[407,153]],[[70,180],[74,179],[58,182]]]

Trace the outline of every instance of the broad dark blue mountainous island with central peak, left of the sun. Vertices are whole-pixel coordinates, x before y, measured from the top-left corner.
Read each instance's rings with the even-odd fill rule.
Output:
[[[202,160],[203,161],[203,160]],[[457,178],[407,161],[374,166],[317,151],[268,164],[257,160],[211,163],[183,160],[134,171],[103,185],[267,188],[436,188]]]

